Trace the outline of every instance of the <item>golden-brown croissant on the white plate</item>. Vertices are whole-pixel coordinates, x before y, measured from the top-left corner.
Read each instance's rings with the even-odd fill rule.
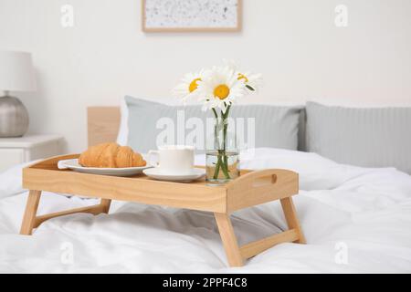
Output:
[[[91,146],[79,156],[79,164],[85,167],[124,168],[145,166],[142,155],[128,146],[102,143]]]

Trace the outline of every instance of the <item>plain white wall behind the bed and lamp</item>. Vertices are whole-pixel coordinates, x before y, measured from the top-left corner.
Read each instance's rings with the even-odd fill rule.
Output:
[[[73,5],[75,26],[60,25]],[[349,26],[334,8],[349,8]],[[223,57],[264,74],[259,102],[411,105],[411,1],[244,0],[237,34],[143,34],[141,0],[0,0],[0,48],[31,51],[39,90],[19,94],[31,132],[86,147],[86,107],[169,96]]]

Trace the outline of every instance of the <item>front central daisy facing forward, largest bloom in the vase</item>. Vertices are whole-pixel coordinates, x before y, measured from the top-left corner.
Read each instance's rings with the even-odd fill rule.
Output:
[[[228,106],[245,95],[245,83],[233,69],[214,67],[205,72],[197,91],[203,110],[218,108],[225,113]]]

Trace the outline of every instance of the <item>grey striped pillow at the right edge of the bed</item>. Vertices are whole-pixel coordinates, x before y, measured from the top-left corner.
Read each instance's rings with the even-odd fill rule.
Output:
[[[411,108],[349,109],[308,102],[307,151],[335,162],[411,173]]]

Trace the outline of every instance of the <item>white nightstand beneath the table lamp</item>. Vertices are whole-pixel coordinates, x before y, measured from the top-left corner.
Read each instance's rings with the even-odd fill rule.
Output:
[[[60,155],[62,141],[58,135],[0,138],[0,172],[18,163]]]

